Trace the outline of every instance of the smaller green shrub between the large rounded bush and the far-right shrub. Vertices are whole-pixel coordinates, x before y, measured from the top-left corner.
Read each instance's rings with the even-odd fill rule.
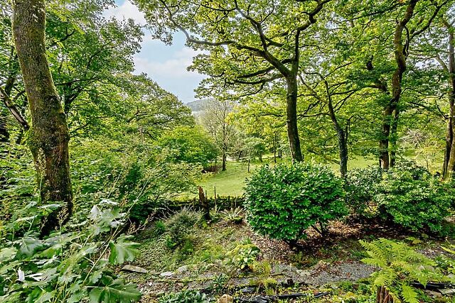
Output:
[[[352,214],[361,217],[375,214],[372,203],[381,177],[380,167],[349,170],[345,189],[346,203]]]

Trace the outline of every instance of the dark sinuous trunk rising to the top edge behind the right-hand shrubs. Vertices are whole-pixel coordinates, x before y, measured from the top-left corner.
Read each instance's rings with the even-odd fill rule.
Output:
[[[390,167],[389,155],[389,142],[391,139],[390,129],[392,123],[394,123],[394,127],[397,127],[397,124],[395,126],[395,123],[398,123],[398,121],[395,119],[393,114],[397,110],[397,105],[398,102],[400,101],[402,93],[402,78],[407,68],[406,67],[407,45],[409,45],[410,41],[408,40],[407,43],[403,43],[402,35],[403,31],[405,31],[407,23],[411,20],[412,16],[414,15],[414,9],[418,1],[419,0],[411,0],[410,3],[407,5],[405,16],[403,16],[402,20],[398,22],[397,26],[395,27],[395,33],[393,36],[395,62],[397,63],[397,67],[392,75],[392,98],[382,111],[382,137],[380,138],[379,143],[380,165],[382,169],[385,170],[387,170]]]

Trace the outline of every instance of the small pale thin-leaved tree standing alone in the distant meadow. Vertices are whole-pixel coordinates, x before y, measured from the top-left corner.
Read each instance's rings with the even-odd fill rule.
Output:
[[[235,140],[235,127],[228,120],[234,109],[230,100],[212,99],[205,106],[201,122],[221,150],[221,170],[226,170],[226,159]]]

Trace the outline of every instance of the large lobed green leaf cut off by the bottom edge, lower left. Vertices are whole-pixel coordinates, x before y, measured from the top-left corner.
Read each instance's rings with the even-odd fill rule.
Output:
[[[90,302],[129,303],[139,300],[141,292],[132,284],[124,285],[123,280],[113,280],[109,285],[94,288],[90,294]]]

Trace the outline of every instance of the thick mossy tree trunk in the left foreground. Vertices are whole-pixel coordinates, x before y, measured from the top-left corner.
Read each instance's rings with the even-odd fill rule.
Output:
[[[62,202],[43,222],[42,236],[70,219],[73,192],[68,157],[68,125],[45,55],[45,1],[14,1],[16,53],[30,106],[29,145],[36,167],[41,203]]]

